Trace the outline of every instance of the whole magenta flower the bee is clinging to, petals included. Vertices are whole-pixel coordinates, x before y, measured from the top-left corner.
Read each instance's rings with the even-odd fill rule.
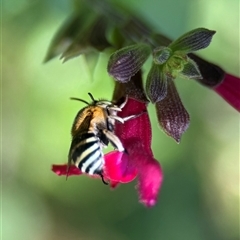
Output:
[[[146,104],[134,99],[128,99],[121,117],[146,112]],[[151,125],[147,113],[116,124],[116,135],[122,141],[126,153],[112,151],[104,156],[105,167],[103,177],[110,182],[111,187],[119,183],[128,183],[138,176],[139,199],[144,205],[151,207],[156,204],[163,174],[160,164],[154,159],[151,150]],[[67,174],[67,165],[53,165],[52,171],[57,175]],[[81,175],[82,172],[71,166],[68,176]],[[89,175],[100,178],[98,175]]]

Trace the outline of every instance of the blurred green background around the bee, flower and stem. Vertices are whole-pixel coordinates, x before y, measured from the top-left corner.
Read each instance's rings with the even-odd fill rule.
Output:
[[[205,59],[239,76],[239,0],[113,1],[176,38],[197,27],[217,34]],[[67,161],[70,128],[83,107],[69,97],[111,98],[102,53],[94,73],[84,58],[42,64],[50,40],[72,12],[64,0],[2,3],[2,239],[239,239],[239,114],[215,92],[179,79],[191,115],[181,144],[157,126],[153,151],[164,170],[158,204],[138,203],[136,182],[110,191],[88,177],[58,177]]]

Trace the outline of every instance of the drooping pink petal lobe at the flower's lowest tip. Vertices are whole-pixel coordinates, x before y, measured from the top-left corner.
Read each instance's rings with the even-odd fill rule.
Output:
[[[158,192],[163,181],[163,172],[160,164],[155,159],[149,159],[141,166],[139,171],[139,198],[147,207],[152,207],[157,202]]]

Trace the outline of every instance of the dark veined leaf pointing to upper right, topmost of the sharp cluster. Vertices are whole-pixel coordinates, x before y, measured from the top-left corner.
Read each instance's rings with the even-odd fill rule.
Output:
[[[211,31],[206,28],[197,28],[188,33],[185,33],[180,38],[172,42],[168,47],[174,52],[181,51],[190,53],[203,48],[206,48],[216,31]]]

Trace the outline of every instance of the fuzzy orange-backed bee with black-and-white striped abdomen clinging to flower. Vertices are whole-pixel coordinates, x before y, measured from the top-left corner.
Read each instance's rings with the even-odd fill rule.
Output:
[[[72,125],[68,170],[71,163],[74,163],[81,172],[100,175],[103,183],[107,184],[103,178],[103,148],[110,143],[118,151],[125,151],[120,139],[114,134],[115,121],[124,123],[142,113],[121,118],[117,116],[117,113],[125,106],[127,98],[120,106],[117,106],[111,101],[97,101],[91,93],[88,95],[92,100],[91,103],[80,98],[71,98],[81,101],[87,106],[77,113]]]

